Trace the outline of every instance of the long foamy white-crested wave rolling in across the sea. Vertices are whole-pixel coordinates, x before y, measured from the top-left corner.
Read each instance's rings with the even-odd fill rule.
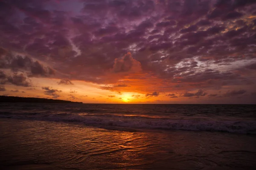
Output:
[[[54,122],[79,122],[84,125],[101,125],[115,127],[170,129],[170,130],[200,130],[229,133],[256,134],[256,121],[217,121],[166,119],[145,116],[95,115],[78,113],[0,113],[0,118],[32,119]],[[116,128],[118,130],[118,128]]]

